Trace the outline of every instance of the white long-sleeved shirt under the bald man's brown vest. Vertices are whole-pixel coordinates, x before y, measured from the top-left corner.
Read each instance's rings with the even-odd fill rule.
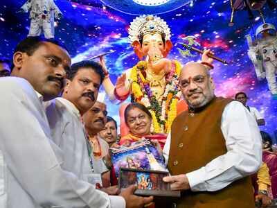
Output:
[[[249,110],[242,103],[232,101],[224,108],[221,130],[226,141],[227,153],[213,159],[206,166],[190,173],[192,191],[217,191],[246,175],[258,171],[262,162],[260,130]],[[163,156],[168,162],[171,136],[168,135]],[[195,151],[197,151],[197,147]],[[186,158],[184,158],[185,160]]]

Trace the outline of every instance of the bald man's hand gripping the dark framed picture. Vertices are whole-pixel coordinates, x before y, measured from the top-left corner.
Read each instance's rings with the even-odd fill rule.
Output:
[[[163,177],[163,181],[170,183],[170,188],[173,191],[190,189],[188,177],[185,174],[166,176]]]

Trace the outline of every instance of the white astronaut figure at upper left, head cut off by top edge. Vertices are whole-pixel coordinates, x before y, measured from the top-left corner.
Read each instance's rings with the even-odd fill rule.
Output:
[[[30,30],[28,36],[39,36],[44,32],[45,38],[54,38],[54,18],[60,19],[62,12],[53,0],[28,0],[21,7],[30,12]]]

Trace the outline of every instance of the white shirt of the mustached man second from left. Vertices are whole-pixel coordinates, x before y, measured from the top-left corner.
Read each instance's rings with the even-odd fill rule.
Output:
[[[61,165],[66,171],[71,171],[78,176],[80,180],[88,181],[88,174],[92,173],[89,153],[87,150],[87,141],[84,134],[84,127],[81,122],[81,115],[77,107],[64,98],[55,98],[52,101],[44,103],[46,116],[51,128],[53,141],[64,153],[64,163]],[[94,173],[102,173],[107,170],[102,159],[96,161],[93,159]],[[91,193],[101,198],[105,195],[102,191]],[[125,207],[125,200],[120,196],[109,196],[111,207]],[[94,207],[107,207],[105,203],[98,202]]]

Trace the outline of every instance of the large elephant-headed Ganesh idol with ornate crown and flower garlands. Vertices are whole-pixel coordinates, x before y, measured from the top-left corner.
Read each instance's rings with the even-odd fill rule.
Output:
[[[105,91],[111,100],[124,101],[130,95],[132,102],[141,103],[150,111],[152,132],[168,133],[181,97],[178,88],[181,64],[167,58],[172,49],[170,28],[160,17],[142,15],[130,24],[129,40],[141,61],[127,69],[116,81],[116,86],[106,78]],[[213,60],[207,53],[202,61],[211,64]]]

